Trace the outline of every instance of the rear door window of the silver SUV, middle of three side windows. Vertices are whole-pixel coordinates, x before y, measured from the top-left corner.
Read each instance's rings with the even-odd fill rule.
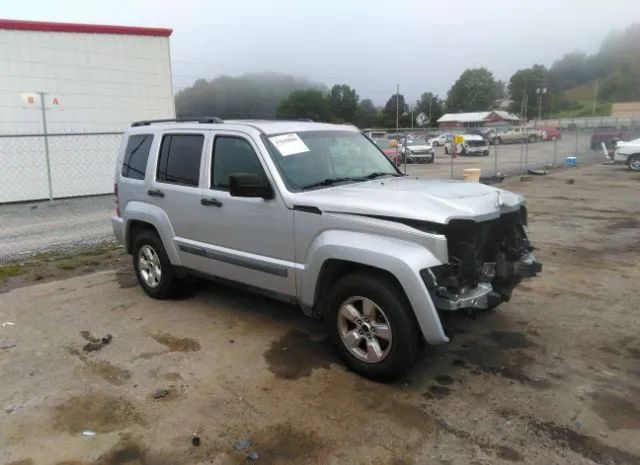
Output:
[[[204,136],[201,134],[164,136],[158,158],[158,181],[197,186],[203,144]]]

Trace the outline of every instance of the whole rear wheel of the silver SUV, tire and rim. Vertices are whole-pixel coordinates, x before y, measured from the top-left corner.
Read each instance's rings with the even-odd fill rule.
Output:
[[[133,268],[144,292],[154,299],[175,294],[177,278],[158,234],[145,230],[134,239]]]

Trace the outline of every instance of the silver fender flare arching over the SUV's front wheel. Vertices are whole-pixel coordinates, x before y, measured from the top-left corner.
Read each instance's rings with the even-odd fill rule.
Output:
[[[442,262],[420,244],[356,231],[328,230],[309,247],[308,261],[297,270],[300,301],[312,306],[317,282],[327,260],[359,263],[391,273],[405,292],[425,340],[432,345],[449,342],[420,270]]]

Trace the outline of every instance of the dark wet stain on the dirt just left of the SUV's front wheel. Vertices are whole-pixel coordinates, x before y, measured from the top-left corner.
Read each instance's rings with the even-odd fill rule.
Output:
[[[326,339],[317,341],[309,333],[293,329],[271,342],[264,358],[276,377],[298,379],[317,368],[330,368],[333,357],[328,346]]]

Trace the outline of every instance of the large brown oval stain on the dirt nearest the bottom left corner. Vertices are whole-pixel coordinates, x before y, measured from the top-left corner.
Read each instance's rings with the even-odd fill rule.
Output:
[[[57,430],[72,434],[84,430],[108,433],[143,424],[131,402],[99,393],[74,396],[58,404],[53,408],[52,420]]]

